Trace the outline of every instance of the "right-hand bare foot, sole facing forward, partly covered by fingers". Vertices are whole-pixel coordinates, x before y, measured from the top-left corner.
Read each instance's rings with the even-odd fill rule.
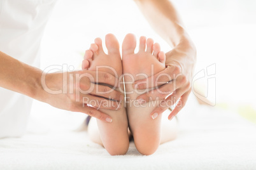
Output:
[[[122,45],[127,115],[136,148],[141,154],[150,155],[157,150],[160,144],[162,115],[154,120],[150,117],[150,113],[157,107],[154,101],[148,103],[140,101],[142,103],[139,105],[136,98],[145,91],[139,93],[132,88],[132,82],[164,70],[166,56],[160,51],[159,44],[153,44],[152,39],[146,40],[146,37],[141,37],[139,41],[139,52],[136,54],[134,54],[136,37],[133,34],[127,34]]]

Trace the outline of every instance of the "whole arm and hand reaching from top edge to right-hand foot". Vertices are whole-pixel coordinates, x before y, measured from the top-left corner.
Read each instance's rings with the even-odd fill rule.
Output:
[[[179,105],[168,116],[168,119],[171,121],[180,112],[181,108],[185,106],[188,95],[191,92],[192,72],[196,64],[196,48],[170,1],[134,1],[138,4],[139,9],[152,27],[173,48],[166,53],[166,69],[153,75],[153,82],[152,77],[149,77],[148,86],[145,83],[141,83],[145,82],[145,79],[134,83],[134,86],[138,83],[138,89],[146,89],[163,85],[163,82],[171,81],[171,83],[164,84],[160,88],[160,91],[165,92],[166,95],[162,95],[159,91],[155,90],[154,93],[145,93],[138,96],[137,99],[141,98],[142,100],[149,101],[150,98],[159,97],[160,100],[165,100],[166,103],[168,101],[169,103],[175,103],[175,101],[180,100]],[[159,74],[167,74],[169,76],[162,76],[157,80]],[[151,112],[150,116],[152,118],[155,117],[153,115],[158,116],[167,108],[169,107],[157,107]]]

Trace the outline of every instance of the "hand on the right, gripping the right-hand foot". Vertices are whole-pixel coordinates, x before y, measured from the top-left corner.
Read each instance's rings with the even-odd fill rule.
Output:
[[[192,46],[191,46],[192,45]],[[196,63],[196,48],[191,43],[182,43],[172,51],[166,53],[166,69],[158,74],[134,82],[135,89],[155,88],[148,93],[138,96],[137,100],[142,99],[146,102],[159,100],[159,106],[153,110],[150,117],[155,118],[162,114],[167,108],[176,104],[168,119],[180,112],[187,102],[191,92],[192,72]],[[147,82],[147,83],[145,83]],[[154,114],[154,116],[152,116]]]

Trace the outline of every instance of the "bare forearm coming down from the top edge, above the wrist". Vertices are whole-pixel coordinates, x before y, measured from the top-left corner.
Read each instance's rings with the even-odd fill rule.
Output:
[[[186,43],[194,48],[180,16],[168,0],[134,0],[153,29],[173,48]]]

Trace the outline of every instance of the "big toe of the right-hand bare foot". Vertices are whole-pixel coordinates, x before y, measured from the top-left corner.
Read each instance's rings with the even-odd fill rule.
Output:
[[[122,44],[123,55],[133,54],[135,48],[136,48],[136,37],[133,34],[127,34]]]

